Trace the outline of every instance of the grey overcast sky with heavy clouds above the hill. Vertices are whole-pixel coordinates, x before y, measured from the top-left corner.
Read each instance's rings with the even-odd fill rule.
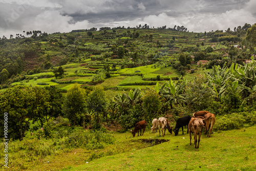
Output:
[[[225,31],[256,23],[255,9],[255,0],[0,0],[0,37],[140,24]]]

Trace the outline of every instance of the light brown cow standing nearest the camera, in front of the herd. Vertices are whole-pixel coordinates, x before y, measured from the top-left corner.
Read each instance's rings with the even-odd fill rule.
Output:
[[[201,134],[203,132],[203,127],[204,127],[203,119],[200,119],[200,118],[190,119],[188,123],[188,132],[189,132],[189,138],[190,138],[189,145],[191,145],[191,138],[192,138],[191,133],[194,133],[195,148],[199,148],[199,142],[200,142]],[[198,145],[197,145],[197,135],[198,135]]]

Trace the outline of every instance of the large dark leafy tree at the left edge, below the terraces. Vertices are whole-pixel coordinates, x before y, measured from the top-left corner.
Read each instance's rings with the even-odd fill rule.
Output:
[[[12,135],[13,139],[23,140],[34,117],[34,102],[35,94],[31,87],[15,86],[0,96],[1,114],[8,111],[8,134]]]

